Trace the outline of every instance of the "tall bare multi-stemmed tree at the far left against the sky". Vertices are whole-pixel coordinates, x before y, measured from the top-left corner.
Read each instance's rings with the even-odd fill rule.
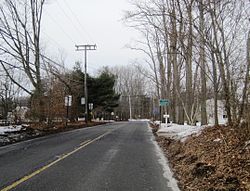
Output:
[[[28,94],[42,93],[40,33],[45,0],[4,0],[0,5],[0,63],[9,78]],[[8,68],[20,69],[35,88],[17,82]]]

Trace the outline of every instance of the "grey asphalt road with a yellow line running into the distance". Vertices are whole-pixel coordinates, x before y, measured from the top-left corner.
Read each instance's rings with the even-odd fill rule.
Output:
[[[162,191],[145,122],[113,123],[0,148],[0,191]]]

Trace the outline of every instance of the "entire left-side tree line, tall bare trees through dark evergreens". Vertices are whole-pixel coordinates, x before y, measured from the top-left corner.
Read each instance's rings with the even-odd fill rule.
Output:
[[[83,114],[84,75],[78,65],[69,71],[64,60],[46,56],[41,39],[45,0],[3,0],[0,2],[0,106],[1,118],[28,97],[29,118],[39,121],[65,118],[64,97],[73,96],[70,117]],[[89,102],[95,114],[111,112],[119,94],[114,92],[116,76],[103,69],[96,77],[87,74]],[[28,102],[28,104],[27,104]]]

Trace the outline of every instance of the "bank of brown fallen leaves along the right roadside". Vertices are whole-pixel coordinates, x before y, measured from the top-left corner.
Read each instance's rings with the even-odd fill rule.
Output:
[[[250,191],[247,126],[216,126],[185,142],[156,137],[185,191]]]

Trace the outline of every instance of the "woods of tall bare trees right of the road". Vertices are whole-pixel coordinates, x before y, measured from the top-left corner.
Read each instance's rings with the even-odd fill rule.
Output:
[[[171,100],[171,120],[208,123],[207,100],[223,101],[229,124],[249,112],[248,1],[147,0],[131,3],[124,22],[144,41],[131,49],[147,56],[157,99]],[[247,53],[248,54],[248,53]],[[246,118],[244,118],[246,119]]]

